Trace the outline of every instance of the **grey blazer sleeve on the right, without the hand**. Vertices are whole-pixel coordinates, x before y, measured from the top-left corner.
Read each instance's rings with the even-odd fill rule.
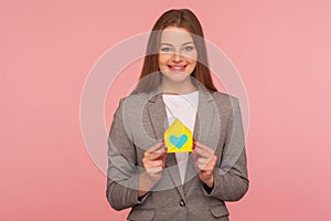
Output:
[[[231,98],[233,108],[226,127],[221,165],[214,169],[214,187],[207,189],[202,183],[205,196],[223,201],[242,199],[249,185],[241,108],[238,99],[236,97]]]

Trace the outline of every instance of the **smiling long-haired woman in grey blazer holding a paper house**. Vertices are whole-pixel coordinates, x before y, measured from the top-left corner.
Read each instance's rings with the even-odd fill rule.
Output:
[[[163,135],[175,119],[192,131],[192,151],[168,151]],[[140,81],[114,115],[108,164],[107,199],[131,208],[128,220],[228,220],[225,201],[246,193],[238,101],[213,85],[192,11],[156,22]]]

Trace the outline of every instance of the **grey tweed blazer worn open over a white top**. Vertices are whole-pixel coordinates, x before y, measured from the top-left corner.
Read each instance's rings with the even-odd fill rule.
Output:
[[[122,98],[108,137],[106,197],[115,210],[131,208],[128,220],[228,220],[225,201],[247,192],[245,136],[236,97],[199,87],[193,138],[215,150],[214,187],[199,179],[192,155],[182,185],[174,154],[168,154],[161,180],[138,199],[143,152],[160,141],[168,127],[166,106],[158,93]]]

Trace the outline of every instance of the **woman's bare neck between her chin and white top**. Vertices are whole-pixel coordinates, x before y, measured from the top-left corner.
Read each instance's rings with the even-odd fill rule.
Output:
[[[162,94],[189,94],[197,91],[190,77],[184,82],[172,82],[163,77],[161,87]]]

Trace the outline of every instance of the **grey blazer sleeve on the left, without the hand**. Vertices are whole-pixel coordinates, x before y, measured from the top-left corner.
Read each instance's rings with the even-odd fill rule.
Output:
[[[141,170],[129,128],[122,120],[124,101],[120,99],[108,136],[108,170],[106,197],[115,210],[122,210],[143,202],[138,200],[138,181]]]

